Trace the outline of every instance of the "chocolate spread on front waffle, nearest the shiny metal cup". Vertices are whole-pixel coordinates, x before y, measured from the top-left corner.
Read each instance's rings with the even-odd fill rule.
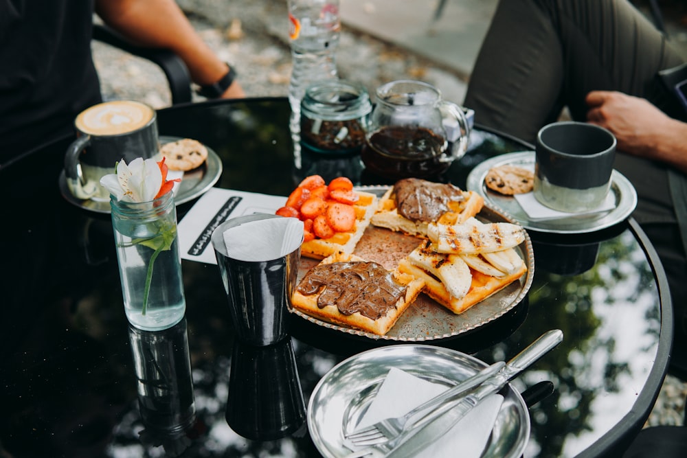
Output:
[[[376,262],[333,262],[313,267],[297,287],[305,296],[319,293],[317,306],[334,305],[339,312],[359,312],[376,320],[405,297],[406,287]]]

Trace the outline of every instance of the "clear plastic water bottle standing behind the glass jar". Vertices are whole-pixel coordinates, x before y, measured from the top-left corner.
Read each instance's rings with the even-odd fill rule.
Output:
[[[291,138],[300,168],[300,102],[315,81],[337,78],[336,50],[341,36],[339,0],[289,0],[293,70],[289,84]]]

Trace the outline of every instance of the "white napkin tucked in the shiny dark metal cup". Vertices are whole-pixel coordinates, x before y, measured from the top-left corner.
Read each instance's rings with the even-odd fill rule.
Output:
[[[223,233],[227,256],[235,260],[271,261],[297,249],[303,222],[297,218],[267,218],[244,222]]]

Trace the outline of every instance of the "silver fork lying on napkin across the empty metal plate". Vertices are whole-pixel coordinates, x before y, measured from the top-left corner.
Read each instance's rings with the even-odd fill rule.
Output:
[[[392,437],[396,437],[399,433],[401,433],[401,431],[403,431],[404,428],[415,426],[415,424],[423,420],[425,414],[428,411],[432,411],[435,407],[441,406],[438,407],[438,411],[449,409],[452,404],[446,403],[445,401],[458,397],[474,387],[481,385],[482,382],[496,374],[505,365],[506,363],[503,361],[498,361],[491,366],[487,366],[481,371],[477,372],[477,374],[474,374],[473,376],[460,382],[458,385],[455,385],[455,387],[451,387],[438,396],[435,396],[427,402],[420,404],[418,407],[412,409],[412,411],[409,411],[405,415],[402,415],[401,417],[385,418],[384,420],[376,422],[367,428],[353,431],[353,433],[346,435],[345,438],[354,444],[354,446],[362,447],[379,444],[381,440],[387,440],[391,439]]]

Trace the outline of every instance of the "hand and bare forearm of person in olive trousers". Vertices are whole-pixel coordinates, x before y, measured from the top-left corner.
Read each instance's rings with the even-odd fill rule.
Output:
[[[614,91],[587,94],[587,121],[610,130],[618,150],[655,159],[687,172],[687,124],[648,100]]]

